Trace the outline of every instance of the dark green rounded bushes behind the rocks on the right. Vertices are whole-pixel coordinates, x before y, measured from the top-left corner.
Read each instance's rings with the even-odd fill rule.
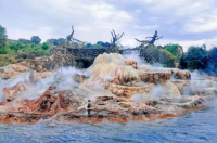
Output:
[[[207,50],[205,44],[191,46],[187,52],[183,52],[179,44],[165,47],[149,44],[142,49],[140,55],[151,64],[161,63],[164,67],[179,67],[217,76],[217,47]]]

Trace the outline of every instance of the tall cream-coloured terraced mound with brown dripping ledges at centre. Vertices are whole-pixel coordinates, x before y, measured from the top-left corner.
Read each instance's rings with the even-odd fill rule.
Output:
[[[93,74],[85,82],[88,88],[94,90],[97,84],[101,84],[113,94],[125,98],[131,98],[139,92],[149,93],[156,84],[165,86],[170,76],[174,75],[171,69],[162,70],[159,68],[158,72],[151,72],[139,67],[136,61],[125,60],[115,53],[99,55],[91,68]],[[187,78],[184,77],[184,79]],[[175,84],[171,83],[171,86]]]

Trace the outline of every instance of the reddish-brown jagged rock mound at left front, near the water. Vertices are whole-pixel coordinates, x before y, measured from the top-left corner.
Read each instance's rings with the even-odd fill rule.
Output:
[[[50,87],[39,99],[22,101],[12,110],[25,114],[77,113],[82,104],[80,96],[74,95],[72,91],[61,91],[58,94],[54,91],[55,87]]]

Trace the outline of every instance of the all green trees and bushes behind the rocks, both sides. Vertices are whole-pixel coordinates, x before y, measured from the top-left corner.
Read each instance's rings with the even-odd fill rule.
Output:
[[[41,43],[38,36],[30,39],[20,38],[10,40],[7,36],[7,29],[0,25],[0,66],[22,62],[26,58],[49,55],[49,49],[60,46],[64,38],[51,38]],[[74,43],[76,48],[110,48],[110,42],[98,41],[95,44]],[[191,46],[187,52],[183,52],[179,44],[167,44],[165,47],[150,46],[143,51],[148,62],[162,63],[165,67],[177,67],[181,69],[205,72],[208,75],[217,76],[217,47],[206,50],[206,46]]]

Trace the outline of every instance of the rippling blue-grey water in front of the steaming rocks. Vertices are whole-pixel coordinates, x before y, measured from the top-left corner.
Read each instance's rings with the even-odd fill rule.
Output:
[[[5,143],[217,143],[217,102],[181,117],[151,122],[78,123],[39,121],[35,125],[0,125]]]

